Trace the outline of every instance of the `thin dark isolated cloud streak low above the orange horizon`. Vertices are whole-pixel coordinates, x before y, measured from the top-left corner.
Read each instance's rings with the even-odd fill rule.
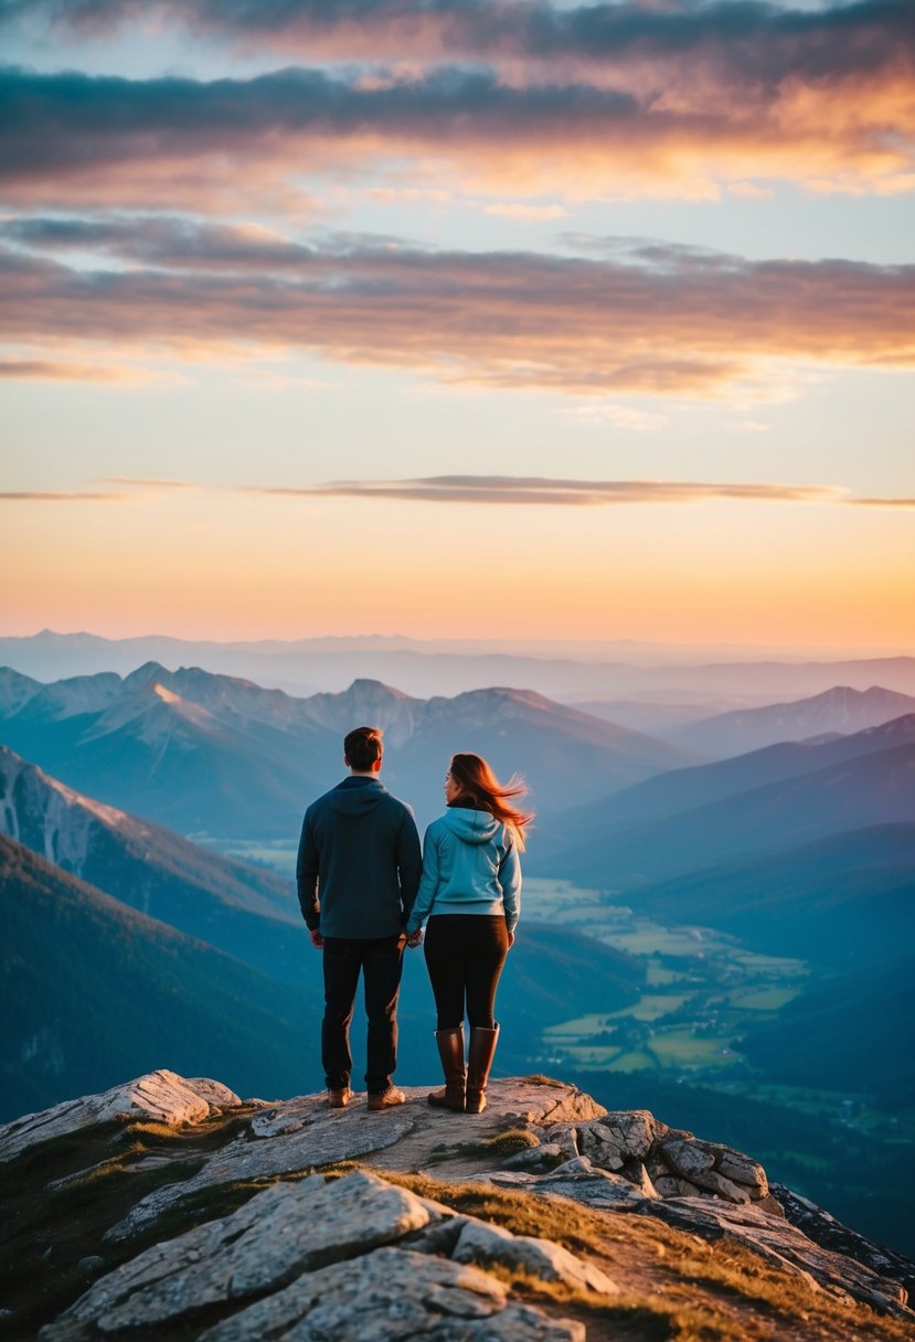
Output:
[[[526,503],[596,507],[616,503],[836,503],[830,484],[747,484],[699,480],[568,480],[531,475],[432,475],[407,480],[331,480],[305,488],[252,484],[246,493],[292,498],[407,499],[423,503]]]

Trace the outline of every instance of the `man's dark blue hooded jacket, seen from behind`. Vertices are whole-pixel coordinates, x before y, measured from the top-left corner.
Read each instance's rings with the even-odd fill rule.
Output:
[[[305,812],[295,879],[311,931],[396,937],[421,872],[413,813],[377,778],[343,778]]]

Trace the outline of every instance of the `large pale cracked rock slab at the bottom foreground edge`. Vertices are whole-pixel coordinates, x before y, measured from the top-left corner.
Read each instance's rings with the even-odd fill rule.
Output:
[[[390,1251],[389,1245],[443,1220],[455,1223],[449,1255]],[[439,1248],[447,1253],[447,1241]],[[602,1272],[549,1240],[453,1217],[366,1172],[331,1181],[311,1174],[274,1184],[231,1216],[145,1249],[97,1282],[40,1338],[137,1337],[142,1329],[186,1327],[204,1311],[225,1312],[200,1334],[223,1342],[413,1333],[443,1339],[529,1335],[545,1342],[584,1337],[570,1321],[508,1306],[506,1288],[479,1270],[494,1263],[606,1296],[618,1294]],[[494,1315],[498,1330],[480,1331],[480,1321],[492,1322]],[[470,1330],[467,1321],[474,1325]]]

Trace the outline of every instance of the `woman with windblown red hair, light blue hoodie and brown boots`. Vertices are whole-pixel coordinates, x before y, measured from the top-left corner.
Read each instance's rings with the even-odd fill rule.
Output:
[[[495,989],[515,939],[521,895],[519,851],[533,813],[508,805],[526,793],[502,786],[486,760],[456,754],[445,774],[447,811],[425,831],[423,879],[407,922],[408,945],[425,933],[425,964],[437,1012],[436,1041],[445,1087],[429,1104],[482,1114],[499,1027]],[[470,1056],[464,1063],[464,1004]]]

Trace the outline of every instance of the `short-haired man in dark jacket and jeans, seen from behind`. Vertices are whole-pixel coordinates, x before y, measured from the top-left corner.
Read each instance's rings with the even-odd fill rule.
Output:
[[[295,868],[311,945],[323,950],[321,1056],[331,1108],[345,1108],[350,1100],[349,1027],[360,970],[369,1019],[369,1108],[390,1108],[407,1098],[390,1078],[397,1066],[404,923],[423,858],[409,807],[378,781],[382,756],[377,727],[349,733],[343,741],[349,777],[306,811]]]

